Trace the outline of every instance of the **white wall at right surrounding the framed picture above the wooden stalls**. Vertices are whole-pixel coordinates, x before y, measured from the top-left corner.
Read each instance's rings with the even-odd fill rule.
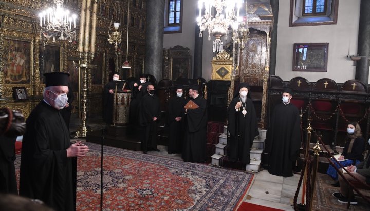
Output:
[[[343,83],[355,78],[356,66],[347,54],[357,54],[360,0],[339,1],[338,23],[289,27],[290,1],[279,1],[278,46],[275,75],[284,81],[302,76],[310,82],[330,78]],[[293,72],[294,43],[329,43],[327,72]]]

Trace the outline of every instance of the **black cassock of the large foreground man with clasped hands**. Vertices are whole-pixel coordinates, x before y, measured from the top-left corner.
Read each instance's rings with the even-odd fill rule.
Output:
[[[60,111],[39,103],[27,118],[22,141],[21,196],[40,199],[55,210],[76,209],[76,171],[66,150],[70,145]]]

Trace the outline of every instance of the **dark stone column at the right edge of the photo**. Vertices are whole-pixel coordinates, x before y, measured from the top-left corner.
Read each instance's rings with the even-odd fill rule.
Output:
[[[357,44],[357,53],[361,56],[370,55],[370,1],[361,0],[360,6],[360,23],[359,36]],[[355,79],[368,85],[369,76],[369,60],[368,58],[361,58],[356,64]]]

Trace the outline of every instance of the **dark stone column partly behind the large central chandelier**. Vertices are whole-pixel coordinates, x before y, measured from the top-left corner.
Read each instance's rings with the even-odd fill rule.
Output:
[[[197,10],[199,14],[199,9]],[[203,37],[199,37],[200,29],[195,25],[195,46],[194,46],[194,71],[193,79],[202,76],[202,61],[203,61]]]

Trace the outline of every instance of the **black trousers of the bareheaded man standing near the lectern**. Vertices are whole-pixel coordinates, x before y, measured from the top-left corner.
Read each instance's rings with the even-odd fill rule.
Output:
[[[157,122],[152,121],[147,126],[140,126],[141,149],[148,151],[157,148]]]

